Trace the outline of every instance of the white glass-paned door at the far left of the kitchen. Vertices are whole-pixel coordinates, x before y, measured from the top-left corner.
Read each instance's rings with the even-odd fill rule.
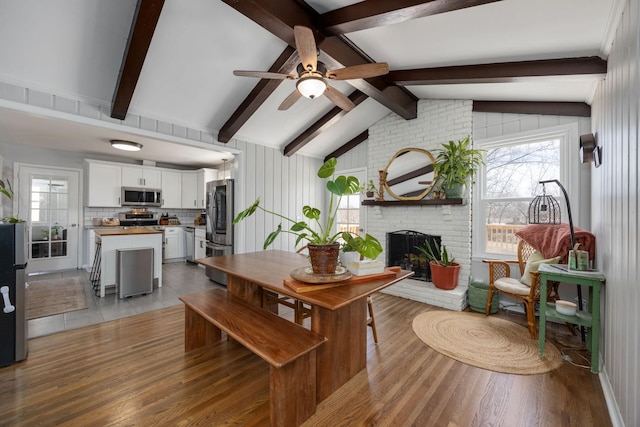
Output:
[[[27,220],[27,273],[77,269],[80,170],[16,164],[17,215]]]

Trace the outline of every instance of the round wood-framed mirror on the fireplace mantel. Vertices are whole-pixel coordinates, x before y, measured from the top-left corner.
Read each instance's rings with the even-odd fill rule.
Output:
[[[435,158],[422,148],[403,148],[384,169],[384,186],[398,200],[424,199],[436,182]]]

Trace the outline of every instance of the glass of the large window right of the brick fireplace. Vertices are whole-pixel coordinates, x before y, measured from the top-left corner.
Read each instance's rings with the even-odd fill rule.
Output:
[[[568,175],[563,161],[568,141],[569,131],[559,129],[478,143],[478,148],[486,150],[486,165],[480,170],[474,190],[475,253],[517,253],[515,232],[527,224],[529,203],[542,194],[539,181],[562,182]],[[544,187],[566,212],[560,188],[553,183]]]

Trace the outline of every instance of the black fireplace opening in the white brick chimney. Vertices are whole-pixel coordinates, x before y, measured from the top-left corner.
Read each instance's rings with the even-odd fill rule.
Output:
[[[413,270],[412,279],[431,281],[431,269],[427,258],[416,246],[425,246],[429,242],[432,248],[439,248],[440,236],[420,233],[412,230],[399,230],[387,233],[387,267],[399,266],[403,270]],[[436,255],[438,255],[436,253]]]

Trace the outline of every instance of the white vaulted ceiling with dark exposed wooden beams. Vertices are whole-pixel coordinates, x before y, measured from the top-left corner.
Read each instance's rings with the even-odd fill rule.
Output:
[[[214,136],[211,147],[182,144],[191,157],[183,160],[167,148],[172,141],[146,135],[139,156],[149,160],[215,163],[234,138],[322,158],[366,140],[387,114],[415,118],[421,98],[588,116],[622,2],[0,0],[0,99],[3,88],[26,87],[104,104],[125,123],[135,114]],[[279,111],[295,82],[233,70],[294,72],[295,25],[313,30],[331,69],[384,61],[391,71],[331,81],[356,104],[350,112],[326,97]],[[58,121],[12,107],[0,104],[0,142],[114,154],[105,141],[127,136],[124,127],[83,123],[74,141],[73,120],[56,132]],[[203,157],[208,148],[213,157]]]

